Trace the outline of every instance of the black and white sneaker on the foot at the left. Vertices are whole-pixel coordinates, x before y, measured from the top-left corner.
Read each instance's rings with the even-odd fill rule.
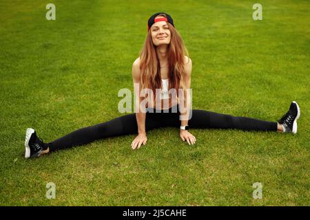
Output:
[[[41,138],[37,137],[34,129],[27,129],[25,134],[25,158],[39,157],[41,151],[48,148]]]

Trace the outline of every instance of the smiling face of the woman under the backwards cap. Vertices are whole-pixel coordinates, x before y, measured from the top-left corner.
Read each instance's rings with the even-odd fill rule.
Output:
[[[163,18],[158,16],[156,18]],[[154,23],[150,28],[152,34],[152,40],[155,46],[169,44],[171,41],[171,32],[167,21],[158,21]]]

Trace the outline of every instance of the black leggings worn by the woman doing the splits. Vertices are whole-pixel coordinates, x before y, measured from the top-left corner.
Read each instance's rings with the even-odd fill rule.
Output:
[[[178,109],[178,106],[176,107]],[[150,110],[150,109],[148,109]],[[154,109],[153,109],[154,110]],[[172,113],[146,113],[145,130],[159,127],[180,127],[179,111]],[[277,131],[277,122],[267,122],[254,118],[235,117],[205,110],[192,110],[192,118],[188,121],[189,129],[241,129],[243,131]],[[123,115],[110,121],[78,129],[48,143],[50,151],[72,146],[88,144],[94,140],[119,135],[137,134],[136,113]]]

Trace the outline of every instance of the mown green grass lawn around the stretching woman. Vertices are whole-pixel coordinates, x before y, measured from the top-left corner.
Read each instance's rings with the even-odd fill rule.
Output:
[[[56,5],[47,21],[45,5]],[[309,206],[310,2],[0,1],[1,206]],[[24,159],[25,130],[50,142],[111,120],[154,12],[171,14],[193,62],[193,108],[278,120],[298,133],[175,128]],[[47,199],[46,184],[56,184]],[[262,199],[252,185],[260,182]]]

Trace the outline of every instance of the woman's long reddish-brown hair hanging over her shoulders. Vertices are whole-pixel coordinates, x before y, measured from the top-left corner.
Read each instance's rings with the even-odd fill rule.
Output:
[[[158,16],[166,17],[165,14],[159,14]],[[167,47],[169,89],[176,89],[178,94],[178,89],[186,88],[183,74],[185,72],[185,55],[188,56],[188,51],[178,31],[170,23],[167,24],[171,33],[171,41]],[[140,53],[140,69],[141,89],[152,89],[155,99],[156,88],[161,89],[162,83],[161,66],[156,53],[156,46],[152,41],[151,28],[147,32],[147,37]]]

